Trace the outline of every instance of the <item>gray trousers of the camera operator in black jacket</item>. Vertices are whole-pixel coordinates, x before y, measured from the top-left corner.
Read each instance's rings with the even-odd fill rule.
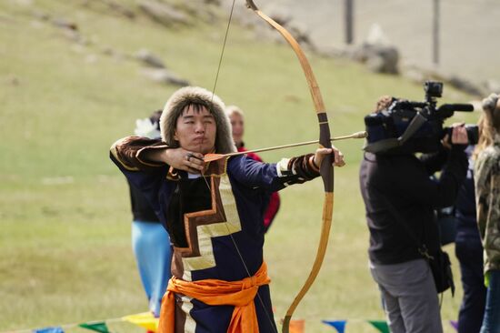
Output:
[[[392,333],[443,332],[434,279],[424,259],[395,265],[370,263],[370,270]]]

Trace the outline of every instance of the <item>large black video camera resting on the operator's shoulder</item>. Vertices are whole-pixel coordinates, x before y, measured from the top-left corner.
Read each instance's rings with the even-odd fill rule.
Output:
[[[443,83],[426,81],[425,102],[412,102],[392,97],[387,106],[365,116],[367,143],[371,153],[432,153],[441,146],[445,134],[451,138],[451,127],[444,127],[446,118],[455,111],[472,112],[471,104],[444,104],[436,107],[436,98],[443,95]],[[466,125],[469,144],[477,143],[478,129]]]

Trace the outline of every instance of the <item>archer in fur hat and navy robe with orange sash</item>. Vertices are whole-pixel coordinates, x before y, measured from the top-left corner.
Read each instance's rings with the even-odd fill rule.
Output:
[[[177,90],[160,118],[161,140],[129,136],[111,159],[141,190],[174,248],[159,332],[277,332],[263,258],[271,193],[319,176],[335,148],[266,164],[236,151],[222,100],[200,87]]]

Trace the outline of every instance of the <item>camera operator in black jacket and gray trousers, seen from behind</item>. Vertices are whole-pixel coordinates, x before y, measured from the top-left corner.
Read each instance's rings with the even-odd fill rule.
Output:
[[[392,101],[381,97],[375,113]],[[366,152],[361,163],[370,269],[393,333],[443,332],[435,281],[415,239],[431,256],[438,251],[435,208],[455,203],[467,171],[467,142],[465,126],[454,125],[449,148],[420,158],[407,149]],[[441,177],[432,181],[429,176],[440,169]]]

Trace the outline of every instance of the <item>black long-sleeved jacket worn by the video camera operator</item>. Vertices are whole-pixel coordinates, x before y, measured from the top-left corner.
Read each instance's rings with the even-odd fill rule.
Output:
[[[439,180],[431,180],[443,165]],[[458,146],[420,159],[412,154],[365,153],[360,185],[370,229],[370,260],[388,265],[421,258],[407,229],[434,252],[439,247],[435,208],[455,204],[466,170],[467,158]],[[397,217],[389,211],[388,203]]]

